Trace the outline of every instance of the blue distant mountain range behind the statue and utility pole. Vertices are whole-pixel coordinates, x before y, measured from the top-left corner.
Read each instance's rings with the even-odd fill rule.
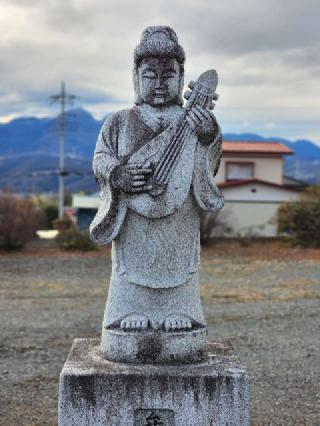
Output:
[[[78,108],[66,113],[66,188],[72,192],[98,190],[91,171],[94,146],[102,125]],[[295,142],[257,134],[224,134],[225,140],[278,141],[295,155],[285,160],[285,173],[320,183],[320,147],[309,140]],[[0,124],[0,188],[21,192],[56,192],[59,165],[59,117],[22,117]]]

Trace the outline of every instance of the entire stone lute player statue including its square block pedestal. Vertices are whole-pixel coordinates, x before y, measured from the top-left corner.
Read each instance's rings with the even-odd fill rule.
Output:
[[[102,126],[91,224],[112,242],[101,342],[75,339],[60,374],[59,426],[249,424],[249,377],[230,345],[207,343],[198,290],[199,213],[218,211],[217,74],[190,82],[169,27],[134,51],[135,106]]]

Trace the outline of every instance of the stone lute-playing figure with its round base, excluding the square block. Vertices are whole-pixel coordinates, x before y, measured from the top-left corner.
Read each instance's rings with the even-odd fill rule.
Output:
[[[141,355],[146,334],[157,346],[154,336],[205,331],[199,211],[223,206],[213,180],[221,157],[221,131],[210,111],[217,75],[207,71],[190,82],[183,107],[184,61],[171,28],[144,30],[134,51],[135,106],[107,117],[94,153],[102,203],[91,237],[112,241],[102,351],[115,360],[130,350],[129,338]],[[171,359],[178,357],[179,349],[172,351]]]

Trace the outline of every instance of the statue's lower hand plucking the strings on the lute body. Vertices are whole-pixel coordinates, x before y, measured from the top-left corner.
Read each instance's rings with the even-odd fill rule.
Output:
[[[111,174],[111,184],[114,188],[128,194],[146,192],[152,189],[147,185],[148,175],[152,173],[151,167],[138,166],[137,164],[125,164],[118,166]]]

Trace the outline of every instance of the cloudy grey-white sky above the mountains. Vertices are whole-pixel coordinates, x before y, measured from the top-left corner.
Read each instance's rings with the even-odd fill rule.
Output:
[[[219,74],[224,132],[320,145],[319,0],[0,0],[0,121],[53,115],[61,80],[96,117],[132,105],[132,52],[170,25],[186,83]]]

